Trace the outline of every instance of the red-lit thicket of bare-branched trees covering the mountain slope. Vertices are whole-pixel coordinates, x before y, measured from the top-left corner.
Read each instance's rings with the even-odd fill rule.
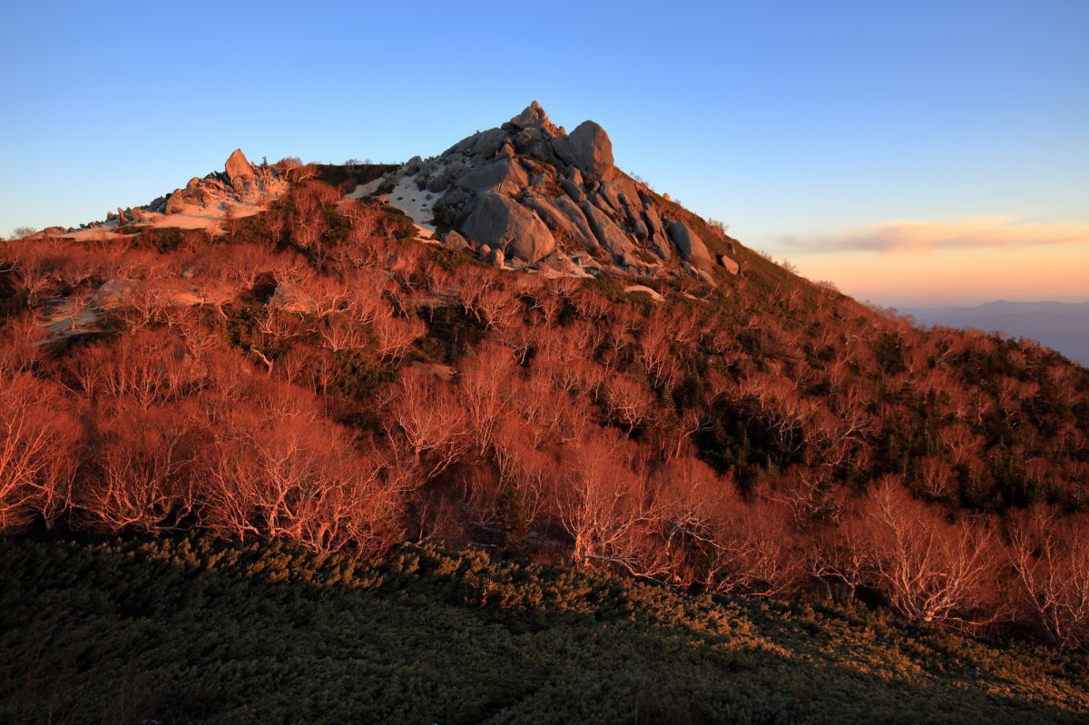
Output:
[[[656,303],[413,236],[311,181],[216,237],[0,246],[0,527],[473,543],[1089,643],[1086,369],[739,246]]]

